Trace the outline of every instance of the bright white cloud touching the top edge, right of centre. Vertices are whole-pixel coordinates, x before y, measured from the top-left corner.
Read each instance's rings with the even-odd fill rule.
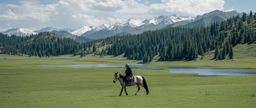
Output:
[[[161,4],[151,4],[154,10],[183,15],[202,15],[213,10],[223,10],[223,0],[162,0]]]

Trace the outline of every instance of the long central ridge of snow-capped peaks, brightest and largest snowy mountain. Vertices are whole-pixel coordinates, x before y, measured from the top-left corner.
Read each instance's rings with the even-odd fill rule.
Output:
[[[146,30],[155,30],[163,25],[173,24],[175,22],[190,19],[193,19],[193,17],[179,15],[161,15],[159,17],[143,21],[130,18],[129,20],[123,23],[116,23],[114,25],[102,24],[99,27],[96,27],[95,29],[89,30],[88,32],[84,32],[84,34],[82,34],[81,36],[92,39],[99,39],[113,36],[115,34],[122,35],[122,32],[125,32],[124,34],[138,34]]]

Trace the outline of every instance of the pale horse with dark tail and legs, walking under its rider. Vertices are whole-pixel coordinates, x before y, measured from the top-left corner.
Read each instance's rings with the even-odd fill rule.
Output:
[[[127,79],[125,79],[125,77],[122,76],[121,74],[118,74],[118,72],[115,72],[115,78],[114,78],[113,82],[116,83],[117,80],[120,82],[120,84],[122,86],[121,93],[119,96],[121,96],[123,89],[125,90],[126,95],[128,95],[128,93],[126,92],[126,88],[125,88],[127,86],[127,83],[126,83]],[[134,76],[134,81],[130,82],[130,86],[134,86],[135,84],[137,84],[137,87],[138,87],[138,90],[135,93],[135,95],[137,95],[138,91],[140,91],[140,85],[145,88],[145,90],[147,91],[147,95],[148,95],[148,93],[149,93],[148,85],[147,85],[145,78],[143,78],[142,76]]]

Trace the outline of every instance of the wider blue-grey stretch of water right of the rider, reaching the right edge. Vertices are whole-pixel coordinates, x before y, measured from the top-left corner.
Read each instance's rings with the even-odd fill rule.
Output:
[[[171,68],[171,73],[193,73],[202,76],[256,76],[256,69]]]

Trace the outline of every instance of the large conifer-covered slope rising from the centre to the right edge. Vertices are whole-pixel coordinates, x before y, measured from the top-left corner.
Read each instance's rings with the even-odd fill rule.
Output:
[[[236,44],[251,44],[256,40],[256,14],[228,18],[207,27],[180,28],[143,32],[137,35],[113,36],[87,44],[106,45],[99,55],[122,55],[151,62],[159,54],[160,61],[195,60],[198,55],[215,50],[214,59],[233,58]],[[95,46],[94,46],[95,47]],[[99,47],[99,46],[98,46]]]

